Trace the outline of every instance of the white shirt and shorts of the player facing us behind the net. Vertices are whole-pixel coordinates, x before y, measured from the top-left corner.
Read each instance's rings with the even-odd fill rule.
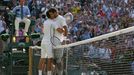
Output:
[[[58,15],[57,18],[54,19],[54,21],[56,22],[56,25],[58,26],[58,28],[63,28],[63,26],[67,27],[66,20],[61,15]],[[63,42],[63,40],[64,40],[64,35],[59,33],[58,31],[55,31],[54,37],[56,37],[56,38],[54,38],[55,46],[61,45],[61,42]],[[58,38],[58,40],[57,40],[57,38]],[[57,63],[61,62],[62,57],[63,57],[63,49],[54,50],[54,58],[56,59]]]

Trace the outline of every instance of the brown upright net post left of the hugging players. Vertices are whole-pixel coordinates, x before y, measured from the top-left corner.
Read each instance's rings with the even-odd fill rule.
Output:
[[[32,65],[33,65],[33,49],[32,47],[29,47],[29,71],[28,75],[32,75]]]

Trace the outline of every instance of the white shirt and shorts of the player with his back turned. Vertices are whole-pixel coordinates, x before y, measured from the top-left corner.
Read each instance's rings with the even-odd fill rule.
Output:
[[[54,21],[48,19],[44,22],[44,36],[41,41],[41,58],[53,58],[52,42],[53,30],[56,29]]]

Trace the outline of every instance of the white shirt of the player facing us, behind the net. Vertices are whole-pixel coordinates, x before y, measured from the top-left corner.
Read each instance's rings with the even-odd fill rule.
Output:
[[[63,28],[63,26],[67,26],[66,20],[63,16],[58,15],[56,19],[54,19],[56,24],[58,25],[58,28]],[[64,36],[63,34],[59,33],[58,31],[55,31],[54,36],[60,39],[60,42],[63,42]]]

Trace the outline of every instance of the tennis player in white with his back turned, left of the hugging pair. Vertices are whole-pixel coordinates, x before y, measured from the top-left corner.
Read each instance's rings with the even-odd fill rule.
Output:
[[[53,64],[53,58],[54,58],[54,54],[53,54],[53,49],[52,49],[52,37],[54,34],[54,31],[57,31],[59,33],[63,33],[63,29],[59,28],[58,25],[56,25],[57,23],[55,21],[53,21],[52,19],[54,19],[53,16],[50,17],[49,13],[46,13],[48,19],[44,22],[43,26],[43,32],[44,32],[44,36],[43,39],[41,41],[41,58],[39,61],[39,74],[38,75],[42,75],[42,71],[47,68],[47,75],[52,75],[52,64]],[[46,59],[48,59],[48,64],[46,67]]]

